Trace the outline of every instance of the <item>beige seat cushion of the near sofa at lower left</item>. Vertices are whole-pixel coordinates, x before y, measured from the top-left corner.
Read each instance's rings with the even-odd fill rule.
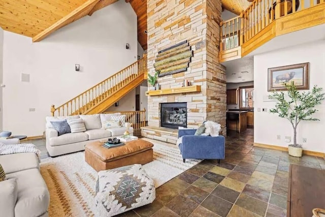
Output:
[[[18,197],[15,217],[40,216],[47,211],[50,194],[38,169],[11,173],[8,178],[16,178]]]

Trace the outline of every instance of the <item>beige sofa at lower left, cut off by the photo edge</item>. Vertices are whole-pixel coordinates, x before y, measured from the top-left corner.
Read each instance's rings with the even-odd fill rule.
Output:
[[[18,144],[19,139],[2,140]],[[7,180],[0,181],[0,216],[48,216],[50,201],[35,153],[0,155]]]

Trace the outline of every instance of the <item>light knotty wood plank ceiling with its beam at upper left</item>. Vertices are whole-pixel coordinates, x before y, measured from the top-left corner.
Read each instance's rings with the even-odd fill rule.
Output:
[[[118,0],[2,0],[0,26],[41,41],[55,30]]]

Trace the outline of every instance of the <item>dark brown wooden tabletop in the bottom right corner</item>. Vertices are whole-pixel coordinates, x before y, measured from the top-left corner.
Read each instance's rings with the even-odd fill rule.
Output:
[[[287,217],[312,216],[314,208],[325,208],[325,170],[290,165]]]

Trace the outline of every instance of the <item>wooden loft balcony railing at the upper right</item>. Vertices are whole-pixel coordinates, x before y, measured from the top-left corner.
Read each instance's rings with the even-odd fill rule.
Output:
[[[239,16],[220,22],[219,50],[241,46],[274,20],[322,4],[324,1],[254,0]]]

